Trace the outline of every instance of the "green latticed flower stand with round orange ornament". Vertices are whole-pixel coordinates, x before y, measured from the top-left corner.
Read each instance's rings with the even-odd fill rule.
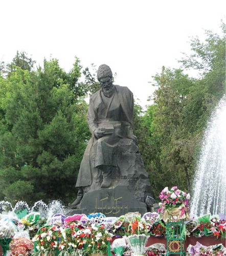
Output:
[[[183,221],[166,223],[167,256],[179,254],[186,256],[185,223]]]

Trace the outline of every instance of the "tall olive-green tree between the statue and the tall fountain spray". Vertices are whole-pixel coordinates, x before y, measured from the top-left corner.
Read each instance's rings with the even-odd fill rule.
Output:
[[[194,164],[190,153],[195,150],[196,137],[193,136],[193,112],[187,109],[193,105],[189,101],[189,92],[195,86],[195,80],[184,75],[182,70],[172,71],[164,67],[161,75],[154,79],[159,89],[155,91],[153,134],[160,143],[162,172],[168,177],[169,186],[176,180],[182,189],[190,190]]]

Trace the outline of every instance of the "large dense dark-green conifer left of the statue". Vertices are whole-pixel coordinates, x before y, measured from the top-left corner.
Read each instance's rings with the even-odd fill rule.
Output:
[[[74,71],[80,68],[77,64]],[[8,88],[20,71],[16,68],[6,78]],[[43,69],[29,72],[21,87],[14,84],[17,90],[3,104],[11,129],[0,137],[0,196],[12,203],[40,199],[68,203],[75,197],[76,177],[89,138],[87,105],[75,99],[70,75],[61,72],[58,61],[44,60]]]

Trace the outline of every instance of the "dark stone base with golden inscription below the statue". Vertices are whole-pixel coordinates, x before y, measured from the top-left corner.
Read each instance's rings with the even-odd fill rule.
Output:
[[[147,208],[141,196],[140,193],[132,193],[126,186],[89,191],[84,195],[80,209],[69,210],[67,215],[102,212],[106,217],[119,217],[135,211],[143,215]]]

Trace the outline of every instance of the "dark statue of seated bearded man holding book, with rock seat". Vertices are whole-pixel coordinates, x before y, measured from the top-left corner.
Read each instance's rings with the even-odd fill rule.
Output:
[[[132,189],[139,190],[134,188],[131,180],[141,176],[146,181],[145,185],[141,185],[141,191],[151,194],[148,175],[137,146],[137,137],[133,134],[133,94],[127,87],[112,83],[112,72],[107,65],[99,67],[97,78],[101,89],[91,96],[87,113],[92,138],[87,144],[80,165],[76,183],[79,188],[78,196],[69,205],[70,208],[80,208],[80,202],[88,191],[115,188],[119,185],[132,186]],[[137,164],[137,159],[141,163]],[[132,166],[130,169],[129,165]],[[136,165],[139,166],[134,168]]]

